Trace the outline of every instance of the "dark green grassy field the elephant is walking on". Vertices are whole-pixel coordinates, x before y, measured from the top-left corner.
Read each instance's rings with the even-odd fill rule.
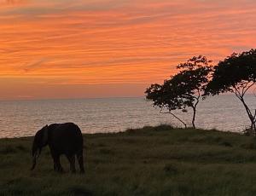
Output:
[[[85,175],[35,170],[32,138],[0,140],[0,195],[256,195],[256,139],[214,130],[145,127],[84,135]],[[78,165],[77,165],[78,169]]]

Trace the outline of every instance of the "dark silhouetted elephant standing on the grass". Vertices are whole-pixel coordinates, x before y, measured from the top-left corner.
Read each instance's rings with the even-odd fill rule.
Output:
[[[34,170],[41,150],[49,146],[54,161],[54,170],[63,172],[60,156],[65,154],[70,170],[75,173],[75,155],[79,161],[80,173],[84,173],[83,135],[79,126],[73,123],[49,124],[38,130],[32,143],[32,169]]]

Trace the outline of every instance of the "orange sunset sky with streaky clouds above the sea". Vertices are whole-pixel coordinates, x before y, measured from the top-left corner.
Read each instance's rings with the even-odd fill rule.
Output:
[[[255,0],[0,0],[0,100],[143,96],[255,46]]]

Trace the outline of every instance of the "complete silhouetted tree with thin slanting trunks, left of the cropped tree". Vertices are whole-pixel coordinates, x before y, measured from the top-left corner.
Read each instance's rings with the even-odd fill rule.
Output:
[[[188,112],[188,107],[191,107],[193,109],[192,125],[195,128],[196,107],[204,93],[209,73],[212,70],[209,63],[211,61],[208,61],[207,57],[199,55],[179,64],[177,69],[180,72],[169,80],[165,80],[164,84],[151,84],[145,91],[146,98],[154,102],[154,107],[160,107],[161,113],[172,114],[185,127],[187,125],[173,111],[178,109]],[[163,112],[166,110],[167,112]]]

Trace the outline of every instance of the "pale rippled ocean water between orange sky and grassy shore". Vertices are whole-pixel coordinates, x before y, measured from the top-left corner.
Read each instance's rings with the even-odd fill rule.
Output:
[[[255,95],[247,95],[246,99],[256,109]],[[176,113],[190,125],[191,111]],[[182,127],[170,114],[160,114],[160,109],[143,97],[0,101],[1,138],[34,135],[45,124],[63,122],[79,124],[84,133],[119,132],[157,124]],[[234,95],[219,95],[199,103],[195,123],[204,129],[241,131],[249,120]]]

